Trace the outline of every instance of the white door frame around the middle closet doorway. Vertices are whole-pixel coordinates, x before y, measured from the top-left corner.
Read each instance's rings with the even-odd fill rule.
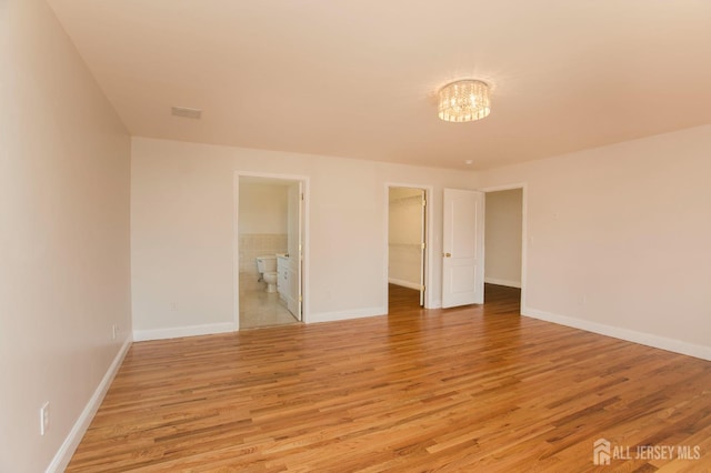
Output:
[[[389,244],[388,244],[388,225],[390,223],[390,189],[391,188],[409,188],[409,189],[419,189],[424,192],[424,309],[435,309],[434,301],[432,298],[432,197],[434,194],[432,185],[423,185],[423,184],[413,184],[405,182],[385,182],[384,189],[384,264],[383,264],[383,288],[384,291],[384,301],[382,306],[388,310],[388,261],[389,261]]]

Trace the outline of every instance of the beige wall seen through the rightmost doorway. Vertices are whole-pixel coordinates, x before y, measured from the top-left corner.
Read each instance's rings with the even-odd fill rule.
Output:
[[[521,189],[487,192],[484,281],[521,288]]]

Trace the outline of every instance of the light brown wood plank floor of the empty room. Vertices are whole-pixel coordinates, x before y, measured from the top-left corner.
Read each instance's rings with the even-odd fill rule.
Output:
[[[600,471],[711,471],[711,362],[518,298],[136,343],[68,471],[583,472],[601,437]]]

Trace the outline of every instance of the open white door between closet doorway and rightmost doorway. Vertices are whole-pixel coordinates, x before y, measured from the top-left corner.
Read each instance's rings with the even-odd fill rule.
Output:
[[[444,189],[442,306],[484,302],[484,194]]]

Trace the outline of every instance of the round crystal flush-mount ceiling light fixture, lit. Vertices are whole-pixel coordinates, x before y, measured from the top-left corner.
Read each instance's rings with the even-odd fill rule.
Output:
[[[439,117],[444,121],[481,120],[491,111],[489,85],[480,80],[458,80],[440,89]]]

